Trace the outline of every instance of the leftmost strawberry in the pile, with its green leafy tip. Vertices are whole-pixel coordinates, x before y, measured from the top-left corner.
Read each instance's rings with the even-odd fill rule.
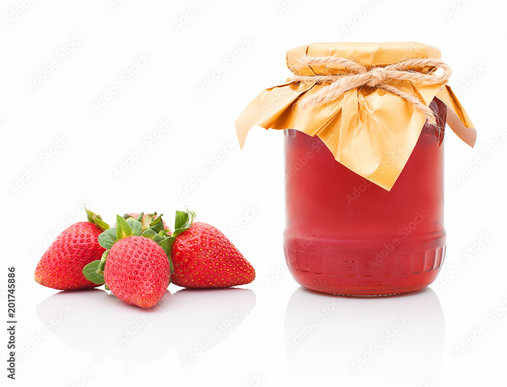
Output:
[[[100,216],[85,210],[88,221],[65,228],[43,254],[34,274],[39,284],[58,290],[99,286],[85,278],[83,268],[102,256],[105,249],[99,245],[98,236],[109,226]]]

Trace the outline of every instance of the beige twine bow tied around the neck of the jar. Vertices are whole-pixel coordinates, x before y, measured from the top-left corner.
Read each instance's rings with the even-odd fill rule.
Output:
[[[304,56],[301,57],[298,62],[302,67],[313,65],[337,68],[337,66],[339,66],[339,68],[345,68],[346,71],[345,73],[331,75],[295,74],[292,80],[298,83],[330,83],[330,85],[322,87],[311,98],[304,101],[301,104],[302,108],[329,102],[341,97],[345,92],[361,86],[376,87],[412,103],[414,108],[424,113],[429,125],[436,124],[433,110],[426,106],[424,101],[421,101],[417,96],[404,92],[388,83],[392,81],[411,81],[413,83],[425,85],[445,85],[451,75],[451,68],[439,59],[407,59],[384,67],[372,67],[370,70],[355,60],[332,56]],[[430,68],[428,73],[414,70],[416,68],[428,67]],[[444,71],[440,74],[436,74],[437,68],[442,68]]]

